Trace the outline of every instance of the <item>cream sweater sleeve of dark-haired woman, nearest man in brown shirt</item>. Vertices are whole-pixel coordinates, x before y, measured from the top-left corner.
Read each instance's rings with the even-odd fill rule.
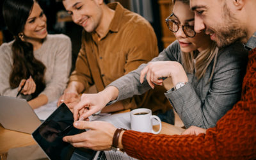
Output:
[[[52,102],[60,97],[66,88],[68,76],[71,68],[71,41],[68,36],[61,36],[57,43],[57,51],[54,56],[54,67],[51,80],[46,83],[45,89],[40,94],[44,94],[48,98],[48,102]]]

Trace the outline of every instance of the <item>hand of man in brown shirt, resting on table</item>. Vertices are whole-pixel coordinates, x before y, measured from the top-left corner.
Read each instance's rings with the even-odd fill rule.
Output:
[[[77,92],[68,92],[65,90],[64,94],[61,95],[58,100],[57,106],[60,106],[61,103],[65,103],[70,111],[73,112],[74,106],[80,101],[79,94]]]

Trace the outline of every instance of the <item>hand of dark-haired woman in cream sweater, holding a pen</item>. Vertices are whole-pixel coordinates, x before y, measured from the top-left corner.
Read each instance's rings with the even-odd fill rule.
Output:
[[[22,88],[23,85],[24,85],[24,87]],[[21,90],[21,88],[22,88],[22,90]],[[22,79],[20,81],[18,92],[19,91],[20,91],[20,93],[22,93],[24,95],[31,95],[32,93],[34,93],[36,91],[36,83],[31,76],[28,79]]]

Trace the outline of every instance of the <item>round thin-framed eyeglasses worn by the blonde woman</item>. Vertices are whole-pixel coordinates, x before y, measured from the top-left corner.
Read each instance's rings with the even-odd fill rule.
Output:
[[[175,20],[171,19],[173,16],[173,13],[165,19],[165,22],[173,33],[176,33],[179,31],[179,28],[181,26],[182,31],[185,33],[186,36],[193,38],[196,35],[196,32],[194,31],[194,28],[189,25],[181,25],[180,22],[175,22]]]

